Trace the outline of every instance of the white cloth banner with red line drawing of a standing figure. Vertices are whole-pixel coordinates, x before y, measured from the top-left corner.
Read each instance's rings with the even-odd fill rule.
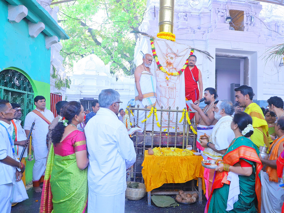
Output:
[[[154,46],[158,56],[158,60],[163,68],[168,72],[178,72],[182,69],[189,57],[191,49],[187,45],[179,44],[177,42],[169,41],[166,39],[155,38]],[[155,67],[155,78],[156,78],[156,108],[176,110],[182,110],[185,105],[185,82],[184,74],[178,76],[168,76],[168,74],[163,73],[157,66],[156,62],[153,61]],[[168,80],[166,80],[168,76]],[[154,115],[154,113],[153,113]],[[162,125],[162,131],[168,128],[169,112],[163,112],[162,122],[160,122],[160,112],[157,112],[158,122]],[[176,123],[178,123],[177,131],[181,132],[183,130],[183,121],[179,123],[182,113],[178,113],[178,122],[176,122],[176,113],[170,113],[170,132],[175,132]],[[155,120],[155,119],[154,119]],[[174,127],[174,128],[173,128]],[[146,129],[152,131],[152,116],[147,120]],[[160,131],[160,128],[154,125],[154,131]]]

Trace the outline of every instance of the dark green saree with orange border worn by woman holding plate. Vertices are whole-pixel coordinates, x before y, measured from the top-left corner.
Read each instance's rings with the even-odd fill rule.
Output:
[[[252,174],[250,176],[239,175],[239,200],[233,204],[232,210],[226,211],[230,182],[227,181],[227,172],[216,172],[212,192],[206,204],[205,212],[260,212],[261,184],[259,172],[262,168],[262,164],[258,154],[258,148],[250,139],[239,137],[235,139],[235,141],[232,141],[223,156],[224,163],[234,165],[238,163],[240,159],[243,159],[252,165]]]

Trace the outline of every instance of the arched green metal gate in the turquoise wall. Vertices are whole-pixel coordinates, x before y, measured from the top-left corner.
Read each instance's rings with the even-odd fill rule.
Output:
[[[28,78],[16,70],[0,72],[0,99],[18,103],[22,108],[22,121],[34,109],[34,90]]]

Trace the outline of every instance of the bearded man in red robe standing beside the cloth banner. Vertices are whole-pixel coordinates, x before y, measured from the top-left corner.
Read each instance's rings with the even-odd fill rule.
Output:
[[[188,58],[188,66],[184,70],[184,80],[185,80],[185,98],[186,100],[192,100],[193,103],[196,100],[202,99],[202,93],[200,94],[200,91],[203,91],[203,83],[202,83],[202,75],[200,70],[195,66],[196,63],[196,56],[191,55]],[[199,84],[199,89],[198,85]],[[188,106],[186,105],[187,110]],[[194,113],[190,113],[190,119],[192,119],[194,116]]]

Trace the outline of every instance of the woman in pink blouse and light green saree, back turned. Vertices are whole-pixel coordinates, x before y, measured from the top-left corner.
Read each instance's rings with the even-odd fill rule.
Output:
[[[51,132],[40,212],[87,212],[87,146],[85,134],[77,129],[84,120],[83,106],[70,101],[61,109],[62,117]]]

